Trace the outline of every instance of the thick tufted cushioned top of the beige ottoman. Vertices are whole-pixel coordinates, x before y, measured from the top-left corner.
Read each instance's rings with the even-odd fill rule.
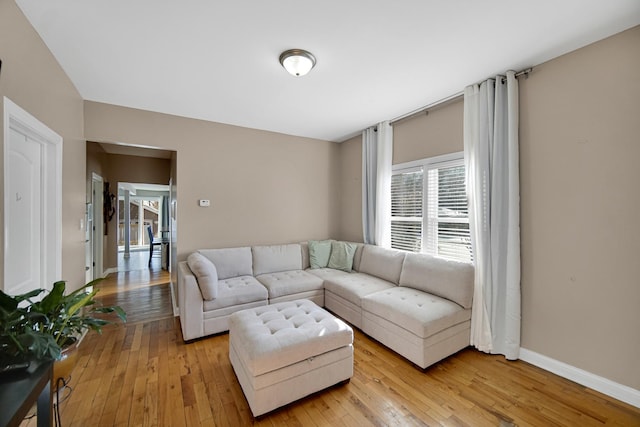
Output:
[[[232,314],[229,342],[256,376],[351,345],[353,331],[313,302],[297,300]]]

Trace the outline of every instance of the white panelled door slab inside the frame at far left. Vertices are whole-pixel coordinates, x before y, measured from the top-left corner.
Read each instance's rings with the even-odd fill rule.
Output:
[[[5,288],[9,294],[43,287],[42,248],[42,145],[10,129],[5,164],[8,224],[5,251]]]

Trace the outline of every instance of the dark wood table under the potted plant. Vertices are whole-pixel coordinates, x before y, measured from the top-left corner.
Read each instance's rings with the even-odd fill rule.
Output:
[[[31,362],[23,371],[0,375],[0,426],[19,426],[35,402],[38,427],[52,425],[53,361]]]

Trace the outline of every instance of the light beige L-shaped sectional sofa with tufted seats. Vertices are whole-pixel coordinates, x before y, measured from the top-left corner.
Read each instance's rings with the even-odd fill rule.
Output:
[[[348,242],[202,249],[178,266],[182,334],[224,332],[236,311],[308,299],[426,368],[469,345],[473,277],[471,264]]]

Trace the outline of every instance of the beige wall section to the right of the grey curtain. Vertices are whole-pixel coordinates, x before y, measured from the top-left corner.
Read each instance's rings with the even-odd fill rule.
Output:
[[[640,389],[640,27],[520,82],[522,345]]]

